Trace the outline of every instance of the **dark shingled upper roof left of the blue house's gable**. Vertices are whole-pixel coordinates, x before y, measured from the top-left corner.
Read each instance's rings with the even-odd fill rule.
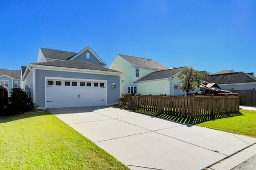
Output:
[[[49,48],[40,48],[40,49],[44,54],[45,58],[50,58],[50,59],[67,60],[77,54],[74,52],[52,50]]]

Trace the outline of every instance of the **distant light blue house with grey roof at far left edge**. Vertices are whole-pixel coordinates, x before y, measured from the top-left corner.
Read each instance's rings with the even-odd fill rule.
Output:
[[[0,86],[7,89],[10,97],[12,89],[20,87],[20,70],[0,69]]]

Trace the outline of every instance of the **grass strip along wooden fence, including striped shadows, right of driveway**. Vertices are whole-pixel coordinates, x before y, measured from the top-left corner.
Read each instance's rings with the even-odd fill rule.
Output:
[[[220,131],[256,137],[256,111],[240,110],[240,112],[214,115],[211,117],[197,117],[195,119],[163,113],[159,114],[158,112],[141,109],[133,109],[133,111],[140,114],[172,120],[178,123],[198,125],[202,127],[217,129]]]

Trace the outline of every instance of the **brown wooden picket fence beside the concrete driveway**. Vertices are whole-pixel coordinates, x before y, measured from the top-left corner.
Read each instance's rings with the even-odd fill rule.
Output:
[[[239,111],[239,96],[124,95],[124,105],[148,111],[195,118]]]

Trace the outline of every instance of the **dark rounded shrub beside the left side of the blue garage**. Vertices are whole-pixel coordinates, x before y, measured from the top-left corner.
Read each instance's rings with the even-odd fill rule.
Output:
[[[11,94],[11,107],[17,112],[26,112],[35,108],[34,103],[22,89],[13,88]]]

